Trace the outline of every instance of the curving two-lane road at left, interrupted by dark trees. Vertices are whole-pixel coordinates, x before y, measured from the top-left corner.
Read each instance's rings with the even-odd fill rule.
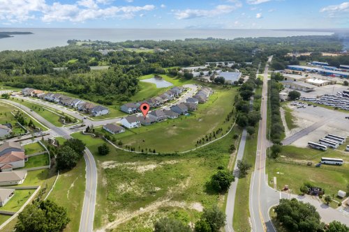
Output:
[[[28,107],[21,105],[20,103],[10,100],[3,100],[20,109],[26,111],[29,115],[36,118],[37,121],[49,127],[50,137],[64,137],[70,139],[70,130],[66,127],[56,127],[45,118],[40,116],[34,111],[31,111]],[[83,232],[93,231],[94,226],[94,209],[96,205],[96,191],[97,191],[97,169],[94,156],[91,154],[88,148],[85,149],[84,160],[86,162],[86,189],[84,192],[84,203],[82,207],[82,214],[80,219],[80,230]]]

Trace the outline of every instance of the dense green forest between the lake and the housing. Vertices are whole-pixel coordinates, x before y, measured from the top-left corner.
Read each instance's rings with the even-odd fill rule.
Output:
[[[276,64],[282,66],[293,62],[292,57],[290,61],[285,59],[288,52],[318,54],[342,49],[341,41],[334,36],[125,42],[69,40],[68,43],[51,49],[0,52],[0,82],[19,88],[66,91],[108,104],[114,100],[128,100],[137,93],[141,75],[180,75],[179,67],[203,65],[209,61],[235,61],[237,64],[232,69],[239,68],[249,74],[271,54],[275,55]],[[143,52],[138,49],[140,47],[151,49],[151,52]],[[103,55],[99,49],[114,51]],[[91,66],[98,65],[110,68],[91,71]],[[191,78],[190,75],[185,77]]]

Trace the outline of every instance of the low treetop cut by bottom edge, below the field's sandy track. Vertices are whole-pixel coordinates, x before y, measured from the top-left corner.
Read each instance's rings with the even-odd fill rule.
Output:
[[[177,219],[164,217],[154,224],[154,232],[191,232],[191,228]]]

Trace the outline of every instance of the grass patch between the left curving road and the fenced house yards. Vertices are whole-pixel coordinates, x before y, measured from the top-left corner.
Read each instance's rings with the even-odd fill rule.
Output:
[[[73,170],[59,173],[57,183],[48,197],[68,211],[70,222],[64,231],[79,231],[84,190],[85,163],[82,159]]]

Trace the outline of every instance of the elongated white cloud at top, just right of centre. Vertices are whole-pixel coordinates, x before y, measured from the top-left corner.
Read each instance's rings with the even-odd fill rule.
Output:
[[[218,5],[212,10],[186,9],[175,10],[174,15],[178,20],[192,19],[195,17],[214,17],[217,15],[231,13],[233,10],[242,7],[242,3],[237,1],[235,5]]]

